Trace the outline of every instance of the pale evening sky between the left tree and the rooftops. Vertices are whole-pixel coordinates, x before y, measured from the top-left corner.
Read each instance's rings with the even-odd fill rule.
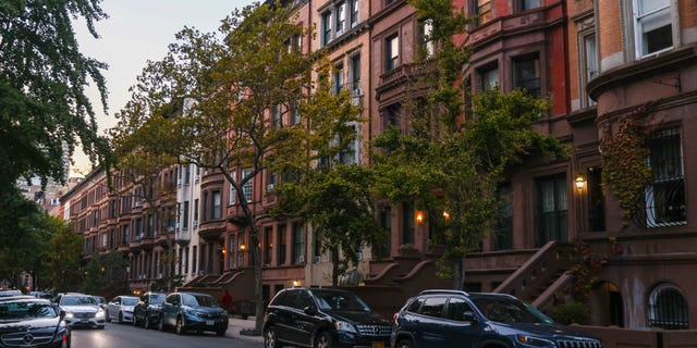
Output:
[[[96,23],[100,38],[89,35],[84,22],[74,23],[83,54],[102,61],[109,70],[102,72],[109,91],[109,110],[101,108],[96,88],[87,94],[95,107],[99,134],[113,127],[113,116],[129,101],[129,88],[135,84],[148,60],[161,60],[174,34],[184,26],[213,32],[220,21],[234,9],[242,9],[254,0],[103,0],[101,8],[109,18]],[[72,175],[86,175],[91,169],[81,152],[73,156]]]

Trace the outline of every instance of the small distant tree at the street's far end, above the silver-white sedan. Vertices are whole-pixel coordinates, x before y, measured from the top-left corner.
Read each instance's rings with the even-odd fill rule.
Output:
[[[59,293],[81,291],[83,284],[83,236],[71,226],[54,220],[54,233],[45,254],[47,279]]]

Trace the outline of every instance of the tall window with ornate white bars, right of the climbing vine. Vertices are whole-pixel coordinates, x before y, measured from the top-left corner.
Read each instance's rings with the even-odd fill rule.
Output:
[[[652,178],[645,191],[646,224],[682,225],[687,221],[687,210],[680,129],[656,133],[648,146]]]

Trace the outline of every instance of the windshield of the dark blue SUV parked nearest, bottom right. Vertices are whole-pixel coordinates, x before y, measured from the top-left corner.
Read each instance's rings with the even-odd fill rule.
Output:
[[[494,322],[502,323],[542,323],[553,321],[535,307],[509,298],[473,297],[479,311]]]

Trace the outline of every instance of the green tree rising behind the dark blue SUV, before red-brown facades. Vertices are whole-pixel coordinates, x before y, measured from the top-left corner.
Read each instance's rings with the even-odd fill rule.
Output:
[[[417,63],[433,73],[421,75],[412,89],[416,95],[405,98],[409,134],[391,129],[376,138],[374,169],[379,174],[375,188],[392,202],[415,202],[429,212],[432,239],[445,248],[440,275],[462,289],[465,257],[478,250],[506,199],[498,194],[505,171],[529,153],[554,159],[564,157],[567,149],[534,130],[547,102],[523,90],[502,94],[492,89],[475,96],[464,120],[457,77],[467,61],[467,48],[456,42],[467,20],[448,0],[409,3],[420,21],[432,24],[426,39],[435,44],[436,51]]]

